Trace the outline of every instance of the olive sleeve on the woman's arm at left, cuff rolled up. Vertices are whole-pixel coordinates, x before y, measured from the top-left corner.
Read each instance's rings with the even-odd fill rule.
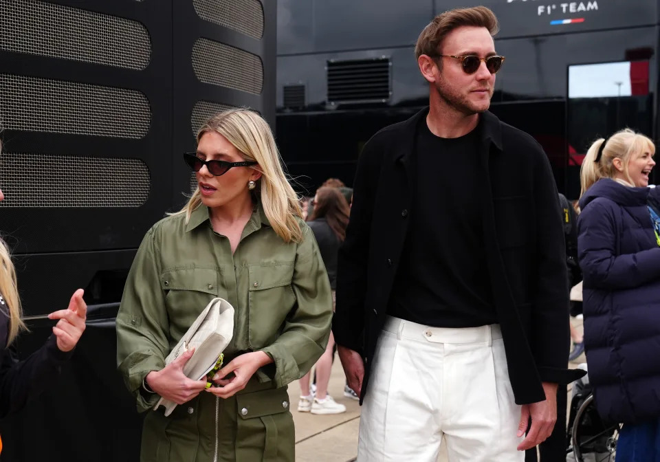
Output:
[[[154,228],[144,236],[124,286],[117,314],[117,362],[138,410],[155,405],[158,395],[140,393],[144,377],[165,366],[167,314],[160,286]]]

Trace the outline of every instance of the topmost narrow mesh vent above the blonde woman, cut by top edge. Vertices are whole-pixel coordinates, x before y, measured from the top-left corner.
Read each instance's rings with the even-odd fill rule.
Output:
[[[205,21],[254,39],[263,36],[263,6],[259,0],[192,0],[192,4]]]

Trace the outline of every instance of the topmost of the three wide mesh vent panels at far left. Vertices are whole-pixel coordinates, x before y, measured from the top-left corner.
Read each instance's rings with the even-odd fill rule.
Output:
[[[0,49],[144,69],[151,40],[136,21],[34,0],[0,0]]]

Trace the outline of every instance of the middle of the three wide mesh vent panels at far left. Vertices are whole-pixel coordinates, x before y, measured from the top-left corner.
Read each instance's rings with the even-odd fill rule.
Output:
[[[139,139],[151,124],[140,91],[0,74],[0,127]]]

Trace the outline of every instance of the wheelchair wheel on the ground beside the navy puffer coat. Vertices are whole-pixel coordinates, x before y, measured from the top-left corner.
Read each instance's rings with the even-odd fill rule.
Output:
[[[575,413],[571,446],[575,462],[614,462],[621,426],[602,421],[589,395]]]

